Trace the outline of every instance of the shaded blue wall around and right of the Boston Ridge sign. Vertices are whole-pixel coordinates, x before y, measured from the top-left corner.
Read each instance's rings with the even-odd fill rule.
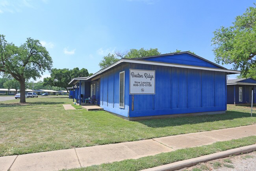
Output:
[[[129,95],[130,117],[226,110],[224,72],[143,64],[131,64],[131,68],[156,70],[156,94]]]

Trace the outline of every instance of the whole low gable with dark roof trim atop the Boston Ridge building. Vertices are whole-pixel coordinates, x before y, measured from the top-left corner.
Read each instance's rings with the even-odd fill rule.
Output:
[[[189,60],[187,59],[188,56],[190,56]],[[169,59],[168,59],[168,57],[169,57]],[[176,57],[176,59],[175,59],[175,57]],[[193,60],[191,60],[192,58],[193,58]],[[133,59],[153,60],[153,61],[159,61],[159,62],[169,62],[169,63],[174,63],[174,64],[189,64],[189,65],[193,65],[193,63],[200,64],[200,63],[204,62],[203,65],[198,65],[198,66],[226,69],[221,65],[217,65],[214,62],[211,62],[210,60],[206,60],[205,58],[202,58],[198,55],[190,53],[189,51],[166,53],[166,54],[145,56],[145,57],[133,58]]]

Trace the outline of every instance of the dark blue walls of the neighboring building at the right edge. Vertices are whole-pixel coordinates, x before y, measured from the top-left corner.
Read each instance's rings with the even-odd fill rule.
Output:
[[[242,102],[239,102],[239,87],[242,87],[243,93],[242,93]],[[254,90],[254,102],[256,102],[256,97],[255,97],[255,91],[256,91],[256,86],[253,85],[228,85],[227,86],[227,104],[234,104],[234,89],[235,89],[235,101],[236,104],[245,104],[245,103],[250,103],[251,100],[251,94],[252,91],[251,89],[253,88]]]

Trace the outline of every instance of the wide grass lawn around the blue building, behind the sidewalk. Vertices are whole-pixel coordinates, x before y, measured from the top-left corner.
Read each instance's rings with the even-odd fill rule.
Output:
[[[65,97],[0,102],[0,156],[96,146],[256,124],[256,107],[226,114],[127,121],[105,111],[64,110]]]

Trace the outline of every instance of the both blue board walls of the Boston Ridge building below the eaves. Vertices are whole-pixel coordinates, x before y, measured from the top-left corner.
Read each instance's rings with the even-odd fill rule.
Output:
[[[129,95],[130,68],[156,71],[155,95]],[[121,71],[125,71],[124,109],[119,108]],[[106,111],[126,117],[226,110],[226,73],[224,72],[125,64],[102,74],[100,87],[100,106]]]

